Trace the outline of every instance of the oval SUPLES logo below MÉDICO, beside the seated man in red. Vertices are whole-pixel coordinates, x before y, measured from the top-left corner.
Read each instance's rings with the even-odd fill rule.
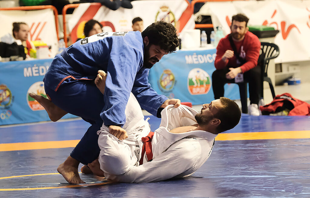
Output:
[[[187,88],[191,95],[208,93],[211,88],[211,78],[209,74],[201,68],[192,69],[188,73]]]

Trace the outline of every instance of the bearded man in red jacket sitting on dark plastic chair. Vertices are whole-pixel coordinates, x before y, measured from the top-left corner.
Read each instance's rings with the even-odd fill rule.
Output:
[[[260,41],[257,36],[248,31],[248,21],[249,19],[242,14],[232,16],[231,34],[222,38],[216,48],[214,63],[216,70],[212,74],[212,88],[214,98],[219,99],[224,96],[225,83],[238,82],[243,74],[243,79],[249,82],[249,113],[259,116],[261,71],[257,67],[257,61]],[[238,77],[235,78],[236,76]]]

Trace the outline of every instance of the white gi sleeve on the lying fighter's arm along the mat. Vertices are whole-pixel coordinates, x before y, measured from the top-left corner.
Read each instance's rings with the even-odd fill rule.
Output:
[[[143,183],[163,181],[176,177],[185,171],[188,174],[195,172],[199,168],[196,165],[200,153],[197,151],[196,144],[188,143],[188,141],[178,142],[153,159],[153,161],[133,167],[122,175],[104,175],[108,181],[113,182]]]

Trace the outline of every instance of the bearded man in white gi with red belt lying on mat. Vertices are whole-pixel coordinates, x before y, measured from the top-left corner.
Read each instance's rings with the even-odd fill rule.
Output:
[[[119,140],[103,125],[98,131],[100,156],[88,167],[108,181],[124,183],[190,176],[209,158],[217,134],[235,127],[241,117],[238,105],[228,98],[202,106],[201,112],[184,105],[167,106],[153,133],[131,94],[123,127],[128,138]]]

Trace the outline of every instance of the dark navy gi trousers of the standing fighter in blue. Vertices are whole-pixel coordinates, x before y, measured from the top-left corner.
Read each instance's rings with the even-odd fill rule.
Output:
[[[69,83],[62,83],[56,92],[45,86],[45,92],[55,105],[66,112],[82,117],[91,124],[70,154],[74,159],[87,165],[98,158],[100,153],[97,131],[103,124],[100,112],[104,107],[104,97],[94,81],[72,79],[66,81]]]

